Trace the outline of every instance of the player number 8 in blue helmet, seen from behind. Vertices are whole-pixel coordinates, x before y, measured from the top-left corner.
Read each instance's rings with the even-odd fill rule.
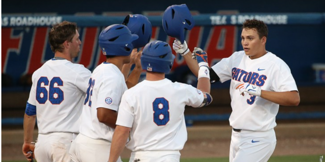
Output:
[[[185,106],[198,108],[212,101],[207,55],[197,57],[198,89],[165,79],[175,58],[166,42],[153,41],[144,47],[141,65],[146,80],[122,97],[108,162],[118,161],[129,132],[129,162],[179,162],[179,150],[187,140]]]

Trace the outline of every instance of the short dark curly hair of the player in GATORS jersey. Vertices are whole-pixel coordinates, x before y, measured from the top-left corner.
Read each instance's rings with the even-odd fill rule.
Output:
[[[245,20],[245,22],[243,23],[243,26],[241,27],[242,29],[244,28],[248,28],[248,29],[256,29],[260,39],[265,36],[267,38],[267,33],[268,33],[268,29],[266,24],[263,21],[260,20],[256,20],[254,19],[247,19]]]

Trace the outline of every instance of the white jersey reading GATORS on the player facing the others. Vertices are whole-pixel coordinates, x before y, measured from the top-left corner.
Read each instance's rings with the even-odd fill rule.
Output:
[[[276,126],[275,116],[279,105],[261,97],[240,95],[235,89],[239,84],[249,82],[262,90],[284,92],[297,91],[297,86],[288,65],[275,54],[268,52],[260,58],[250,59],[244,51],[235,52],[223,58],[212,69],[220,81],[231,80],[230,98],[232,113],[230,126],[235,129],[267,131]]]

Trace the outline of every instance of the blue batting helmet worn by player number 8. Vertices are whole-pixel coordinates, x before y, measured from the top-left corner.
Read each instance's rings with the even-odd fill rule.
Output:
[[[174,59],[175,55],[171,53],[171,48],[166,42],[153,41],[143,48],[141,65],[143,70],[169,73]]]

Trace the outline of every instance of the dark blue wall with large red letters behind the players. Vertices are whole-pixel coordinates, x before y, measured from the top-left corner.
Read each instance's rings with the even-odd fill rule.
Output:
[[[8,85],[2,81],[4,91],[17,90],[27,84],[31,75],[45,61],[53,57],[48,32],[55,22],[76,22],[82,47],[75,63],[93,70],[105,60],[98,48],[97,37],[109,25],[120,24],[125,16],[7,16],[2,15],[1,74],[11,78]],[[153,25],[152,40],[162,40],[172,45],[162,28],[161,16],[148,16]],[[189,48],[200,47],[209,54],[209,63],[217,63],[241,47],[241,24],[245,19],[263,20],[269,28],[266,49],[282,58],[291,68],[298,85],[318,85],[315,82],[314,63],[325,63],[325,13],[247,13],[235,15],[195,15],[195,27],[186,33]],[[191,72],[180,55],[176,55],[171,75],[172,81],[190,82]],[[23,77],[23,78],[22,78]],[[24,78],[25,77],[25,78]],[[27,77],[28,78],[28,77]],[[325,78],[325,77],[324,77]],[[325,79],[324,79],[325,80]],[[321,85],[324,85],[321,83]],[[213,85],[216,87],[227,87]],[[22,90],[18,88],[18,91]]]

